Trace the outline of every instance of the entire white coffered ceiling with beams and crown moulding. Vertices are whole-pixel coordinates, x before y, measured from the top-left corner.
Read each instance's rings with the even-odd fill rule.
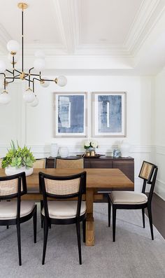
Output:
[[[10,39],[21,43],[18,2],[8,0],[1,5],[3,59]],[[27,67],[38,48],[47,55],[47,70],[68,74],[157,74],[165,65],[165,0],[27,0],[26,3],[29,4],[24,11]]]

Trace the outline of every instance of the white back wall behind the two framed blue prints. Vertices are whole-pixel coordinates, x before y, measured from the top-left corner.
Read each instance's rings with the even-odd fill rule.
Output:
[[[50,76],[51,77],[51,76]],[[131,144],[130,155],[135,158],[135,188],[140,190],[138,172],[143,160],[152,161],[154,137],[152,134],[153,82],[151,77],[141,76],[67,76],[66,87],[51,83],[48,88],[36,85],[40,103],[37,107],[24,106],[20,90],[15,85],[13,101],[5,108],[0,106],[1,143],[0,156],[5,155],[4,146],[10,139],[31,146],[36,157],[50,155],[50,144],[69,146],[70,155],[83,151],[82,138],[52,137],[52,92],[88,92],[88,137],[91,137],[90,92],[127,92],[127,141]],[[10,85],[11,88],[12,85]],[[4,116],[5,115],[5,116]],[[16,123],[16,124],[15,124]],[[114,144],[122,139],[99,138],[99,153],[110,153]]]

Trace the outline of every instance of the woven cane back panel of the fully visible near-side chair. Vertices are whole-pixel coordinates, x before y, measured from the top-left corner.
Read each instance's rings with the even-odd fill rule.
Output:
[[[69,195],[78,193],[80,187],[80,178],[67,181],[56,181],[45,179],[45,190],[47,193],[55,195]]]

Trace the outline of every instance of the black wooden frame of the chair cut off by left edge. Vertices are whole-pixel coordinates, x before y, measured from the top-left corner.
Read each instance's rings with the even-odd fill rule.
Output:
[[[30,214],[27,216],[20,217],[20,204],[21,204],[21,196],[27,194],[27,181],[25,172],[20,174],[15,174],[12,176],[1,176],[0,181],[10,181],[13,179],[18,179],[18,187],[17,193],[12,195],[0,195],[1,200],[12,200],[17,198],[17,216],[16,218],[12,219],[2,219],[0,220],[0,225],[6,225],[7,228],[9,225],[16,225],[17,226],[17,246],[18,246],[18,257],[19,257],[19,265],[22,265],[22,258],[21,258],[21,237],[20,237],[20,224],[28,221],[33,217],[33,224],[34,224],[34,243],[36,243],[36,219],[37,219],[37,207],[36,204],[34,209],[31,211]],[[22,190],[21,190],[22,187]]]

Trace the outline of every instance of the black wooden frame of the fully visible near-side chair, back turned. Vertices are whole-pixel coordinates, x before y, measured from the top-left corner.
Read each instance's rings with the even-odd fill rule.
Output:
[[[69,195],[55,195],[47,193],[45,190],[45,179],[52,179],[57,181],[69,181],[71,179],[80,178],[80,188],[78,193],[73,193]],[[42,264],[45,263],[45,251],[48,240],[48,228],[51,227],[51,224],[55,225],[69,225],[76,224],[76,232],[78,238],[78,254],[79,254],[79,263],[82,264],[82,256],[81,256],[81,243],[80,243],[80,222],[82,221],[82,230],[83,230],[83,242],[85,242],[85,224],[86,224],[86,212],[82,216],[80,216],[81,202],[82,202],[82,194],[86,193],[86,172],[82,172],[80,174],[75,174],[71,176],[52,176],[42,172],[39,172],[39,184],[40,184],[40,192],[43,193],[43,207],[45,211],[45,216],[41,214],[41,219],[43,221],[43,260]],[[74,218],[50,218],[48,211],[48,197],[52,199],[61,199],[68,200],[71,198],[78,198],[78,205],[76,211],[76,217]],[[42,209],[42,208],[41,208]]]

